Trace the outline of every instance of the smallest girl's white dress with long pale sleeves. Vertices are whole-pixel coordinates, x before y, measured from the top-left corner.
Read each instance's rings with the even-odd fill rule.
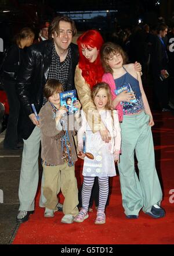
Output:
[[[121,133],[117,111],[103,111],[100,113],[104,125],[111,134],[111,141],[102,141],[100,132],[93,133],[88,125],[84,112],[81,111],[82,126],[78,131],[78,145],[82,145],[82,137],[86,133],[86,152],[92,153],[94,159],[85,157],[82,175],[93,177],[115,176],[115,162],[113,157],[114,150],[120,150]]]

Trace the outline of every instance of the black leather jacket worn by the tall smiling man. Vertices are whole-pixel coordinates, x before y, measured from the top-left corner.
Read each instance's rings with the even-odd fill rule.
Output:
[[[31,104],[34,103],[37,112],[42,107],[43,102],[43,88],[45,86],[49,67],[52,61],[52,47],[53,42],[51,40],[42,41],[39,44],[27,47],[27,52],[21,62],[19,74],[17,77],[17,93],[21,102],[22,113],[22,130],[23,138],[27,139],[35,125],[28,117],[33,113]],[[75,44],[71,44],[71,64],[70,72],[66,90],[73,90],[75,67],[78,63],[78,47]]]

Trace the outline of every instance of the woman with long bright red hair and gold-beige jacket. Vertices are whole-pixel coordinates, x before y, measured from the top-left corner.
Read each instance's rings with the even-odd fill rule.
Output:
[[[102,35],[97,30],[88,30],[78,38],[79,63],[75,70],[75,87],[90,128],[93,133],[100,131],[102,140],[108,143],[111,139],[110,133],[102,122],[91,97],[91,89],[96,83],[102,81],[104,74],[100,61],[100,50],[103,43]],[[135,63],[135,69],[141,71],[141,65]],[[117,109],[119,110],[119,105]],[[98,190],[99,186],[96,182],[96,186],[93,187],[94,195],[98,194]],[[95,197],[98,199],[98,196]],[[81,198],[79,198],[79,201],[81,201]]]

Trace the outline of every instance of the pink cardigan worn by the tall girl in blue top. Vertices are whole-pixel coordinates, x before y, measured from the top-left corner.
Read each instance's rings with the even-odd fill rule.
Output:
[[[102,81],[107,83],[110,86],[111,89],[111,97],[112,97],[112,101],[117,97],[117,95],[115,94],[115,81],[114,81],[114,77],[111,73],[104,73],[103,77],[102,77]],[[118,111],[118,118],[119,118],[119,122],[122,122],[123,119],[123,111],[122,111],[122,105],[119,103],[115,109],[117,109]]]

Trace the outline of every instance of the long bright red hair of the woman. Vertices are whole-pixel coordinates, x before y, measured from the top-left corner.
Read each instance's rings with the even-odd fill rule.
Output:
[[[77,40],[79,49],[79,68],[82,70],[82,76],[86,83],[90,85],[90,88],[102,81],[104,70],[100,59],[100,49],[102,48],[103,43],[102,35],[97,30],[88,30]],[[97,48],[99,54],[95,62],[90,63],[88,59],[85,58],[82,54],[82,46],[85,46],[86,48]]]

